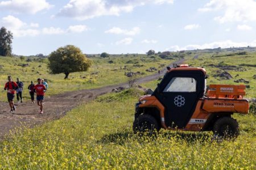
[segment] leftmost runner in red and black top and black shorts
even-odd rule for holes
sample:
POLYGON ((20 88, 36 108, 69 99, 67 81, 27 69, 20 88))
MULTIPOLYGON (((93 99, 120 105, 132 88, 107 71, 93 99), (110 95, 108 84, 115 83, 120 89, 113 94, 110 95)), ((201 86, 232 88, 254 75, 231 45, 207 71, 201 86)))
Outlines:
POLYGON ((11 80, 11 76, 8 76, 8 82, 5 84, 5 90, 7 90, 7 99, 11 108, 10 112, 15 111, 15 105, 13 99, 15 97, 15 90, 18 88, 18 84, 11 80))

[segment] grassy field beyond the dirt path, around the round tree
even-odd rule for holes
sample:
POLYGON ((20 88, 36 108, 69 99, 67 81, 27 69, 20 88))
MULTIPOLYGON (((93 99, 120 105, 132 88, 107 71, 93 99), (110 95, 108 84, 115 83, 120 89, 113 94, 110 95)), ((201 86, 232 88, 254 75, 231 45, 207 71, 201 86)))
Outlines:
MULTIPOLYGON (((127 82, 128 78, 125 72, 137 72, 140 71, 146 76, 154 74, 147 72, 146 69, 155 67, 156 69, 162 69, 164 66, 175 61, 174 59, 161 59, 158 56, 148 57, 146 55, 121 55, 112 56, 109 58, 92 57, 93 66, 89 71, 71 73, 69 79, 64 80, 64 74, 49 74, 47 68, 47 59, 40 59, 32 57, 32 62, 27 62, 27 58, 23 61, 18 57, 0 57, 0 101, 6 101, 6 92, 3 91, 3 87, 7 82, 7 76, 11 75, 16 81, 16 78, 24 83, 24 99, 30 97, 27 87, 31 80, 36 82, 38 78, 44 78, 48 80, 49 89, 47 95, 60 94, 66 91, 75 91, 81 89, 96 88, 102 86, 108 86, 112 84, 118 84, 127 82), (109 63, 112 61, 113 63, 109 63), (27 64, 28 66, 22 67, 19 65, 27 64), (138 66, 141 65, 141 66, 138 66), (126 69, 124 69, 126 66, 126 69)), ((157 71, 155 71, 156 73, 157 71)))

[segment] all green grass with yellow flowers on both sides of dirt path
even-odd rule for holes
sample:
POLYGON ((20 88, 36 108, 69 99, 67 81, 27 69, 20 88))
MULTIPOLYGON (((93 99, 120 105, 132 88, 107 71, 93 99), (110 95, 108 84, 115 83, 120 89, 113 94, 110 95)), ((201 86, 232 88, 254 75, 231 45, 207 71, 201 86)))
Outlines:
MULTIPOLYGON (((233 76, 230 80, 218 80, 219 77, 213 77, 219 68, 209 66, 210 64, 238 66, 242 63, 256 63, 255 52, 248 52, 249 54, 243 56, 220 57, 227 53, 226 51, 218 53, 217 56, 216 53, 213 55, 208 51, 200 52, 198 59, 191 59, 195 54, 193 52, 186 58, 189 65, 204 66, 207 69, 208 84, 240 84, 235 83, 234 80, 240 78, 249 80, 250 83, 246 85, 250 85, 250 88, 246 89, 246 97, 255 98, 256 84, 255 79, 252 78, 256 74, 255 67, 241 66, 243 71, 239 73, 228 70, 233 76), (234 78, 237 74, 239 76, 234 78)), ((8 67, 6 61, 3 58, 0 59, 2 59, 0 62, 5 63, 6 69, 8 67)), ((63 80, 62 74, 50 75, 44 72, 46 63, 40 63, 42 67, 39 73, 44 73, 40 76, 51 80, 50 95, 125 81, 123 70, 117 71, 118 73, 111 70, 128 65, 126 62, 131 59, 125 57, 112 59, 116 60, 113 64, 109 64, 109 59, 96 57, 93 59, 94 66, 88 73, 73 73, 69 80, 63 80), (97 77, 91 75, 98 70, 100 73, 97 77), (113 73, 117 76, 113 76, 113 73), (89 80, 92 76, 95 83, 90 84, 80 79, 81 74, 88 76, 85 80, 89 80), (63 84, 62 91, 57 90, 59 84, 63 84)), ((134 59, 136 60, 137 57, 134 59)), ((14 73, 15 59, 10 58, 10 60, 12 61, 10 67, 13 69, 9 68, 10 72, 7 72, 7 69, 0 70, 1 84, 5 82, 3 73, 14 73)), ((147 65, 137 69, 141 71, 147 69, 149 65, 158 66, 160 63, 170 62, 170 60, 147 63, 139 61, 147 65)), ((26 69, 31 70, 38 64, 33 62, 26 69)), ((133 67, 133 64, 129 66, 133 67)), ((22 67, 18 68, 22 69, 22 67)), ((30 80, 31 78, 28 77, 32 74, 30 70, 19 72, 19 76, 26 81, 30 80)), ((133 68, 132 71, 137 70, 133 68)), ((34 72, 31 75, 34 79, 38 76, 34 72)), ((143 86, 155 89, 158 82, 155 80, 143 86)), ((73 109, 60 120, 46 122, 32 129, 15 129, 11 135, 0 142, 0 169, 256 169, 255 114, 233 115, 240 125, 240 135, 235 141, 213 141, 212 132, 166 130, 160 130, 157 138, 139 138, 133 134, 132 125, 134 104, 141 95, 142 92, 136 89, 125 90, 118 94, 106 94, 73 109)))

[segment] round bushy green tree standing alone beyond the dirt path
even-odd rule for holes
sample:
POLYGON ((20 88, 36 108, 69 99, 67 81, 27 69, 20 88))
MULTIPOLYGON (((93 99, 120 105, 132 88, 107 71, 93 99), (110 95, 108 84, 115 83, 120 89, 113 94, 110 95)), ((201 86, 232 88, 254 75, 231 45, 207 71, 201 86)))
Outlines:
POLYGON ((49 55, 48 67, 53 74, 64 73, 68 78, 69 73, 87 71, 92 61, 82 53, 80 48, 74 45, 66 45, 58 48, 49 55))

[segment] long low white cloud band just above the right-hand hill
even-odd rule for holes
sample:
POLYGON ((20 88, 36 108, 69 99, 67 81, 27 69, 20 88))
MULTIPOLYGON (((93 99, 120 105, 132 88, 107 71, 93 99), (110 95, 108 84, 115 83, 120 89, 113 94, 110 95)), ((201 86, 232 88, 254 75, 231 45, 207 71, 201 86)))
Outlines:
POLYGON ((226 41, 215 41, 215 42, 210 42, 202 45, 198 44, 191 44, 191 45, 186 45, 183 47, 180 47, 178 45, 171 46, 170 48, 167 48, 166 50, 171 50, 171 51, 177 51, 177 50, 193 50, 193 49, 212 49, 212 48, 230 48, 230 47, 245 47, 245 46, 256 46, 256 40, 252 42, 234 42, 231 40, 226 40, 226 41))

